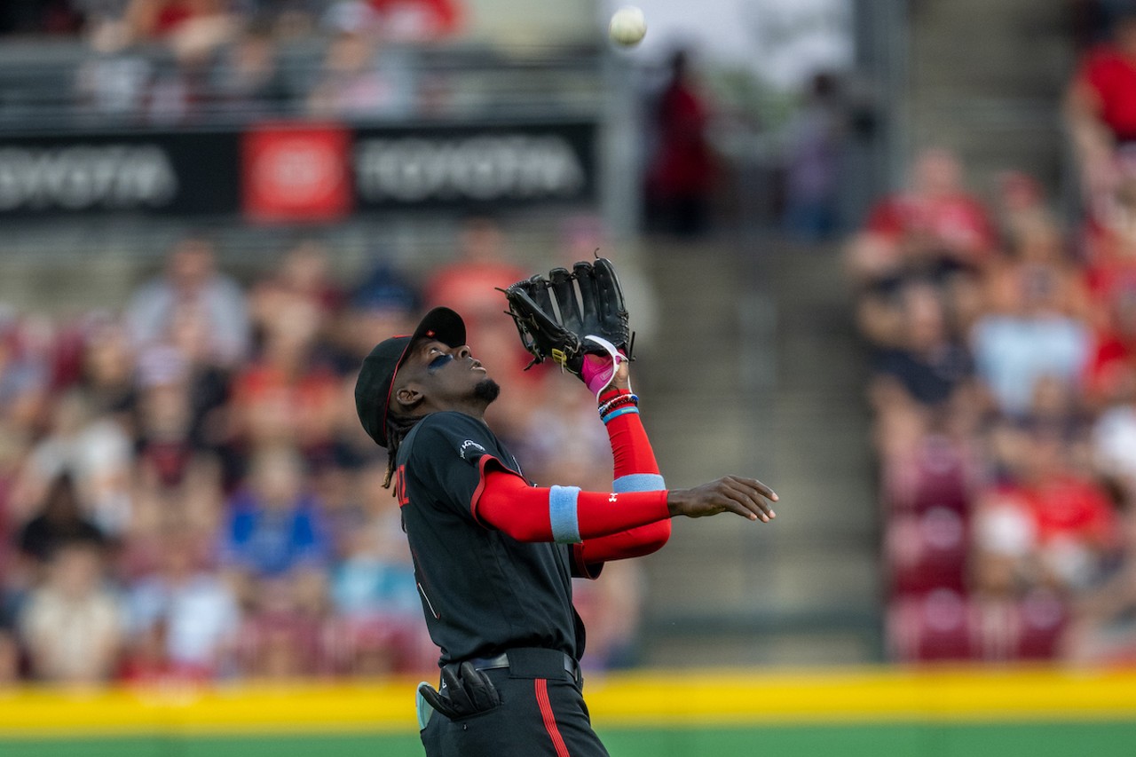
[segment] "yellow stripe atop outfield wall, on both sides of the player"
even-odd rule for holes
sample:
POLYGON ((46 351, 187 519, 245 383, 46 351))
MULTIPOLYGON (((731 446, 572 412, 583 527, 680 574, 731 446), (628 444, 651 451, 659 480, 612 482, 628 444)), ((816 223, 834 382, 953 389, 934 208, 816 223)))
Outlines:
MULTIPOLYGON (((415 680, 156 690, 0 689, 0 738, 412 732, 415 680)), ((1136 671, 699 671, 592 675, 600 727, 846 722, 1136 722, 1136 671)))

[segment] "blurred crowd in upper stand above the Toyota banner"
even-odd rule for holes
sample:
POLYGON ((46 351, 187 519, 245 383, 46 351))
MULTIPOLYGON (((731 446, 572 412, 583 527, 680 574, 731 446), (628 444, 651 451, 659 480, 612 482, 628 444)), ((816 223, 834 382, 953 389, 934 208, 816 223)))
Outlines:
POLYGON ((465 20, 458 0, 34 0, 0 7, 0 38, 81 43, 73 81, 28 97, 82 123, 400 118, 452 99, 418 53, 465 20))

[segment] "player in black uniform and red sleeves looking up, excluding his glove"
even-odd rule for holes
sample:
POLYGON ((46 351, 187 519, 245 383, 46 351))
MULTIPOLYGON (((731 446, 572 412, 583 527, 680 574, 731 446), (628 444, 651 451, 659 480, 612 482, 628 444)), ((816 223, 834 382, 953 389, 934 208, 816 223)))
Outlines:
POLYGON ((411 335, 376 346, 356 385, 364 429, 390 452, 441 649, 438 688, 418 687, 423 744, 429 757, 607 755, 582 693, 571 577, 659 549, 676 515, 768 522, 777 496, 735 476, 667 490, 613 348, 588 356, 585 372, 611 441, 612 491, 534 486, 484 421, 499 386, 465 342, 461 317, 434 308, 411 335))

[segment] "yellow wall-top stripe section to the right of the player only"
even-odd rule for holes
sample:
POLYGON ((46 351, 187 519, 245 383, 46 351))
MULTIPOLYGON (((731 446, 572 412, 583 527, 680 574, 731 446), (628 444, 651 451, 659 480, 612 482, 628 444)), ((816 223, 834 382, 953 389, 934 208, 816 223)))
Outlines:
POLYGON ((632 723, 1136 719, 1136 672, 657 673, 590 687, 587 700, 596 719, 632 723))

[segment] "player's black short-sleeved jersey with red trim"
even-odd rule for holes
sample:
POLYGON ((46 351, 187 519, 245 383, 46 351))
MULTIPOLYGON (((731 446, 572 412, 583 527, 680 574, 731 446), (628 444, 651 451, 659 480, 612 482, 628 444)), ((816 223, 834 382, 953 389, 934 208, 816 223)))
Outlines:
POLYGON ((441 664, 516 647, 579 659, 584 630, 571 605, 570 547, 520 542, 474 516, 493 466, 520 475, 483 421, 454 411, 423 418, 395 459, 415 579, 441 664))

